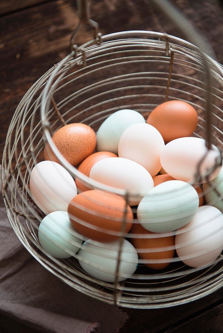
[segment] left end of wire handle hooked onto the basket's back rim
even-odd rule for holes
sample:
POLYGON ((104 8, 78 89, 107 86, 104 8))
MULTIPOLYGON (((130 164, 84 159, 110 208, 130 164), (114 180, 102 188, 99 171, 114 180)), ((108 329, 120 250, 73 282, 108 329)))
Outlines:
POLYGON ((94 29, 94 39, 96 40, 97 44, 101 42, 101 33, 98 32, 98 23, 90 19, 90 4, 88 0, 77 0, 77 8, 78 8, 78 16, 79 22, 77 27, 71 34, 70 37, 70 50, 74 52, 74 57, 76 56, 77 52, 80 50, 83 54, 83 64, 85 65, 86 59, 84 57, 84 49, 78 48, 75 44, 75 37, 77 32, 79 31, 82 24, 86 24, 94 29))

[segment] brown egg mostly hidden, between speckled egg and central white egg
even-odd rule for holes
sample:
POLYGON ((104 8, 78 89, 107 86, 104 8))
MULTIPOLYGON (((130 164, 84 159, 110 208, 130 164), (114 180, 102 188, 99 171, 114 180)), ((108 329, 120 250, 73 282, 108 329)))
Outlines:
MULTIPOLYGON (((110 153, 110 152, 97 152, 94 153, 90 156, 88 156, 79 166, 78 166, 78 171, 82 172, 83 174, 85 174, 86 176, 89 177, 90 174, 90 170, 92 168, 92 166, 97 163, 100 160, 103 159, 107 159, 109 157, 118 157, 116 154, 114 153, 110 153)), ((77 186, 77 190, 78 192, 84 192, 84 191, 88 191, 91 188, 87 187, 86 185, 82 184, 81 181, 79 181, 78 179, 75 179, 75 183, 77 186)))

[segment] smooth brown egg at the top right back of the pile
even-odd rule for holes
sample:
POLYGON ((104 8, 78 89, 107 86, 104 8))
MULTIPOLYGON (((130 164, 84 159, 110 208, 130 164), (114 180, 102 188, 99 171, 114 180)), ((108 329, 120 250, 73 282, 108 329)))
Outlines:
POLYGON ((183 101, 168 101, 158 105, 149 115, 147 124, 154 126, 168 143, 174 139, 189 137, 196 130, 196 110, 183 101))

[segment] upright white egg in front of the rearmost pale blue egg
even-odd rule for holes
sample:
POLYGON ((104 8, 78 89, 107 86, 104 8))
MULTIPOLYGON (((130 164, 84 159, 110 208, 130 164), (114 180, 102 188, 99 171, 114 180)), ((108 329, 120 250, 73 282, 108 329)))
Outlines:
POLYGON ((161 169, 160 154, 164 147, 164 140, 155 127, 134 124, 120 138, 119 157, 139 163, 154 177, 161 169))

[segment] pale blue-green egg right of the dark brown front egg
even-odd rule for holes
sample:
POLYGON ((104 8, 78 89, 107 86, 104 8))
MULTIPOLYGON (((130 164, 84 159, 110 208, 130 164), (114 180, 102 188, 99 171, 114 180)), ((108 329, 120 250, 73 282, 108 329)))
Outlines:
POLYGON ((151 232, 170 232, 187 224, 197 212, 199 196, 184 181, 169 180, 155 186, 141 200, 137 217, 151 232))

